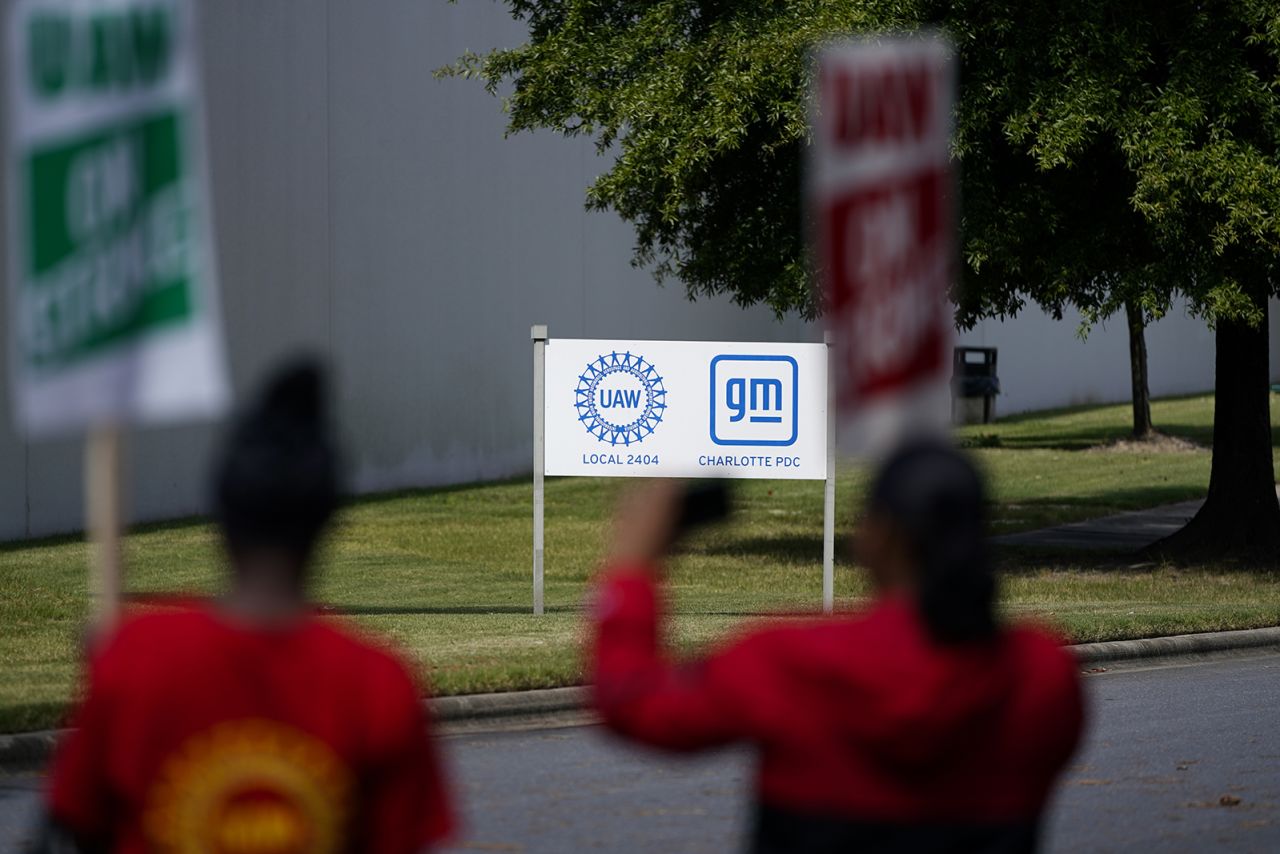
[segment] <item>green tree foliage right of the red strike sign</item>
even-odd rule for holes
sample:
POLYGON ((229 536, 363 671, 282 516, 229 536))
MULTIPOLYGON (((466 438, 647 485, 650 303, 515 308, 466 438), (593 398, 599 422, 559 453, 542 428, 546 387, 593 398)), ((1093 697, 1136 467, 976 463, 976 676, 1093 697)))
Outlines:
POLYGON ((1029 296, 1256 321, 1280 257, 1272 3, 954 4, 961 321, 1029 296))

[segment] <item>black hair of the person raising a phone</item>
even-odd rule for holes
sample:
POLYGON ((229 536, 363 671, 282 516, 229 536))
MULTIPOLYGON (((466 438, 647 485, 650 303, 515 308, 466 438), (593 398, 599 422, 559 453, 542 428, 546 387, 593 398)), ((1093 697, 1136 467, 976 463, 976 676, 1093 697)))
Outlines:
POLYGON ((910 543, 916 604, 931 636, 942 644, 995 636, 986 493, 969 458, 940 440, 902 446, 879 470, 869 510, 883 513, 910 543))

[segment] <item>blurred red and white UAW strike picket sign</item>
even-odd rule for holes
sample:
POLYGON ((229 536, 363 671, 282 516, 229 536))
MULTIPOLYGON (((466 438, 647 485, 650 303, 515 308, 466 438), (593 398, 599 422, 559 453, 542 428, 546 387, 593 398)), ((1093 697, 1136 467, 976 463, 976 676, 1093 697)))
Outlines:
POLYGON ((951 50, 936 37, 818 54, 808 196, 838 443, 851 453, 950 424, 954 92, 951 50))

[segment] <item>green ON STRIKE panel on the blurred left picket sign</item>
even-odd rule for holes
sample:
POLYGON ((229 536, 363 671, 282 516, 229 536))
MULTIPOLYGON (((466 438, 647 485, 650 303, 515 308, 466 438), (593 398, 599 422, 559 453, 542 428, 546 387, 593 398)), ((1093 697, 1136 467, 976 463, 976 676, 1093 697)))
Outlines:
POLYGON ((179 117, 32 152, 27 359, 92 357, 191 318, 192 211, 179 117))

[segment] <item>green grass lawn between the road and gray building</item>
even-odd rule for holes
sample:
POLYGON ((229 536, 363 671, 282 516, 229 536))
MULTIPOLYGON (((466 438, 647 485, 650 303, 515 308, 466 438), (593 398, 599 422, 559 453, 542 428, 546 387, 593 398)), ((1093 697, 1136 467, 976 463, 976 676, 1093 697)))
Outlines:
MULTIPOLYGON (((1212 398, 1153 405, 1160 429, 1204 443, 1212 398)), ((1272 406, 1272 423, 1280 411, 1272 406)), ((988 472, 998 533, 1202 495, 1210 455, 1098 448, 1126 431, 1126 406, 1018 416, 965 428, 988 472)), ((440 694, 573 684, 580 607, 598 560, 614 480, 553 479, 547 489, 547 604, 530 608, 531 495, 525 481, 366 498, 343 515, 316 597, 361 629, 394 639, 440 694)), ((865 472, 841 470, 841 534, 865 472)), ((820 598, 822 487, 742 481, 740 513, 691 540, 672 568, 682 647, 745 620, 813 611, 820 598)), ((133 594, 219 590, 214 531, 145 526, 127 539, 133 594)), ((77 672, 87 549, 77 538, 0 545, 0 731, 54 726, 77 672)), ((1221 567, 1130 566, 1116 556, 1005 556, 1007 609, 1080 641, 1280 624, 1280 577, 1221 567)), ((842 607, 865 593, 837 565, 842 607)))

